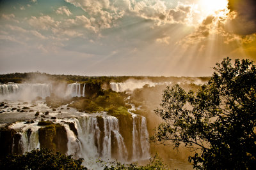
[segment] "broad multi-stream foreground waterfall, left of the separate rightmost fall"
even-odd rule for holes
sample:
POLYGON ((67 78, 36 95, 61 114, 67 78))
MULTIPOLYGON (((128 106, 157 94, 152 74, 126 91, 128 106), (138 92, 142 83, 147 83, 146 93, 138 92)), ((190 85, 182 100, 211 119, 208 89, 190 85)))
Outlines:
POLYGON ((127 149, 124 138, 119 132, 118 119, 115 117, 102 117, 102 119, 104 122, 102 139, 100 139, 100 128, 96 117, 74 118, 77 137, 65 125, 68 136, 68 154, 83 157, 86 160, 100 156, 104 159, 127 160, 127 149), (116 140, 117 157, 112 155, 113 140, 116 140))

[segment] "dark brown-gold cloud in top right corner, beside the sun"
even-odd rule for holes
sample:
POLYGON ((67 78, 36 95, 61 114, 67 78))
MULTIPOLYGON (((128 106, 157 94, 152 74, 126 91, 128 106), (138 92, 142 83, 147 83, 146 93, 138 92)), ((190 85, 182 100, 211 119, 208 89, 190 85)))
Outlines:
POLYGON ((256 33, 256 1, 255 0, 229 0, 230 14, 234 15, 227 22, 227 31, 239 35, 256 33))

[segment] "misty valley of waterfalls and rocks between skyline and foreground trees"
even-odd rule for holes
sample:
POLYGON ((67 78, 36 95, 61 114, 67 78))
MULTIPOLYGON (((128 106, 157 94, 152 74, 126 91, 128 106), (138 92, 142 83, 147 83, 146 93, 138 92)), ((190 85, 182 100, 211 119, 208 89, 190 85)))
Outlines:
POLYGON ((171 169, 191 169, 189 151, 150 143, 161 123, 154 110, 166 86, 198 89, 209 78, 65 76, 14 73, 0 76, 1 155, 49 148, 83 158, 146 164, 155 153, 171 169))

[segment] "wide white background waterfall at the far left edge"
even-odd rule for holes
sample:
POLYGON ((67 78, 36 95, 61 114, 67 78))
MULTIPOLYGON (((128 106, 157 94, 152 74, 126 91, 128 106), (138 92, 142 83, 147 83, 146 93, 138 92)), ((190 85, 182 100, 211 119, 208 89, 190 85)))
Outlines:
POLYGON ((0 98, 2 99, 28 99, 35 97, 45 98, 51 96, 51 85, 42 83, 12 83, 0 85, 0 98))

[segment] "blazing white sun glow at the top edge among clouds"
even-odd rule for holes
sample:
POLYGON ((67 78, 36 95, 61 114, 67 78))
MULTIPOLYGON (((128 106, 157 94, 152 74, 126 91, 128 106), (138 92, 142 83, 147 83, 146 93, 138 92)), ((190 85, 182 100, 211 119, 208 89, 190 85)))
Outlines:
POLYGON ((226 10, 228 6, 228 0, 199 0, 198 5, 204 15, 214 14, 216 11, 226 10))

